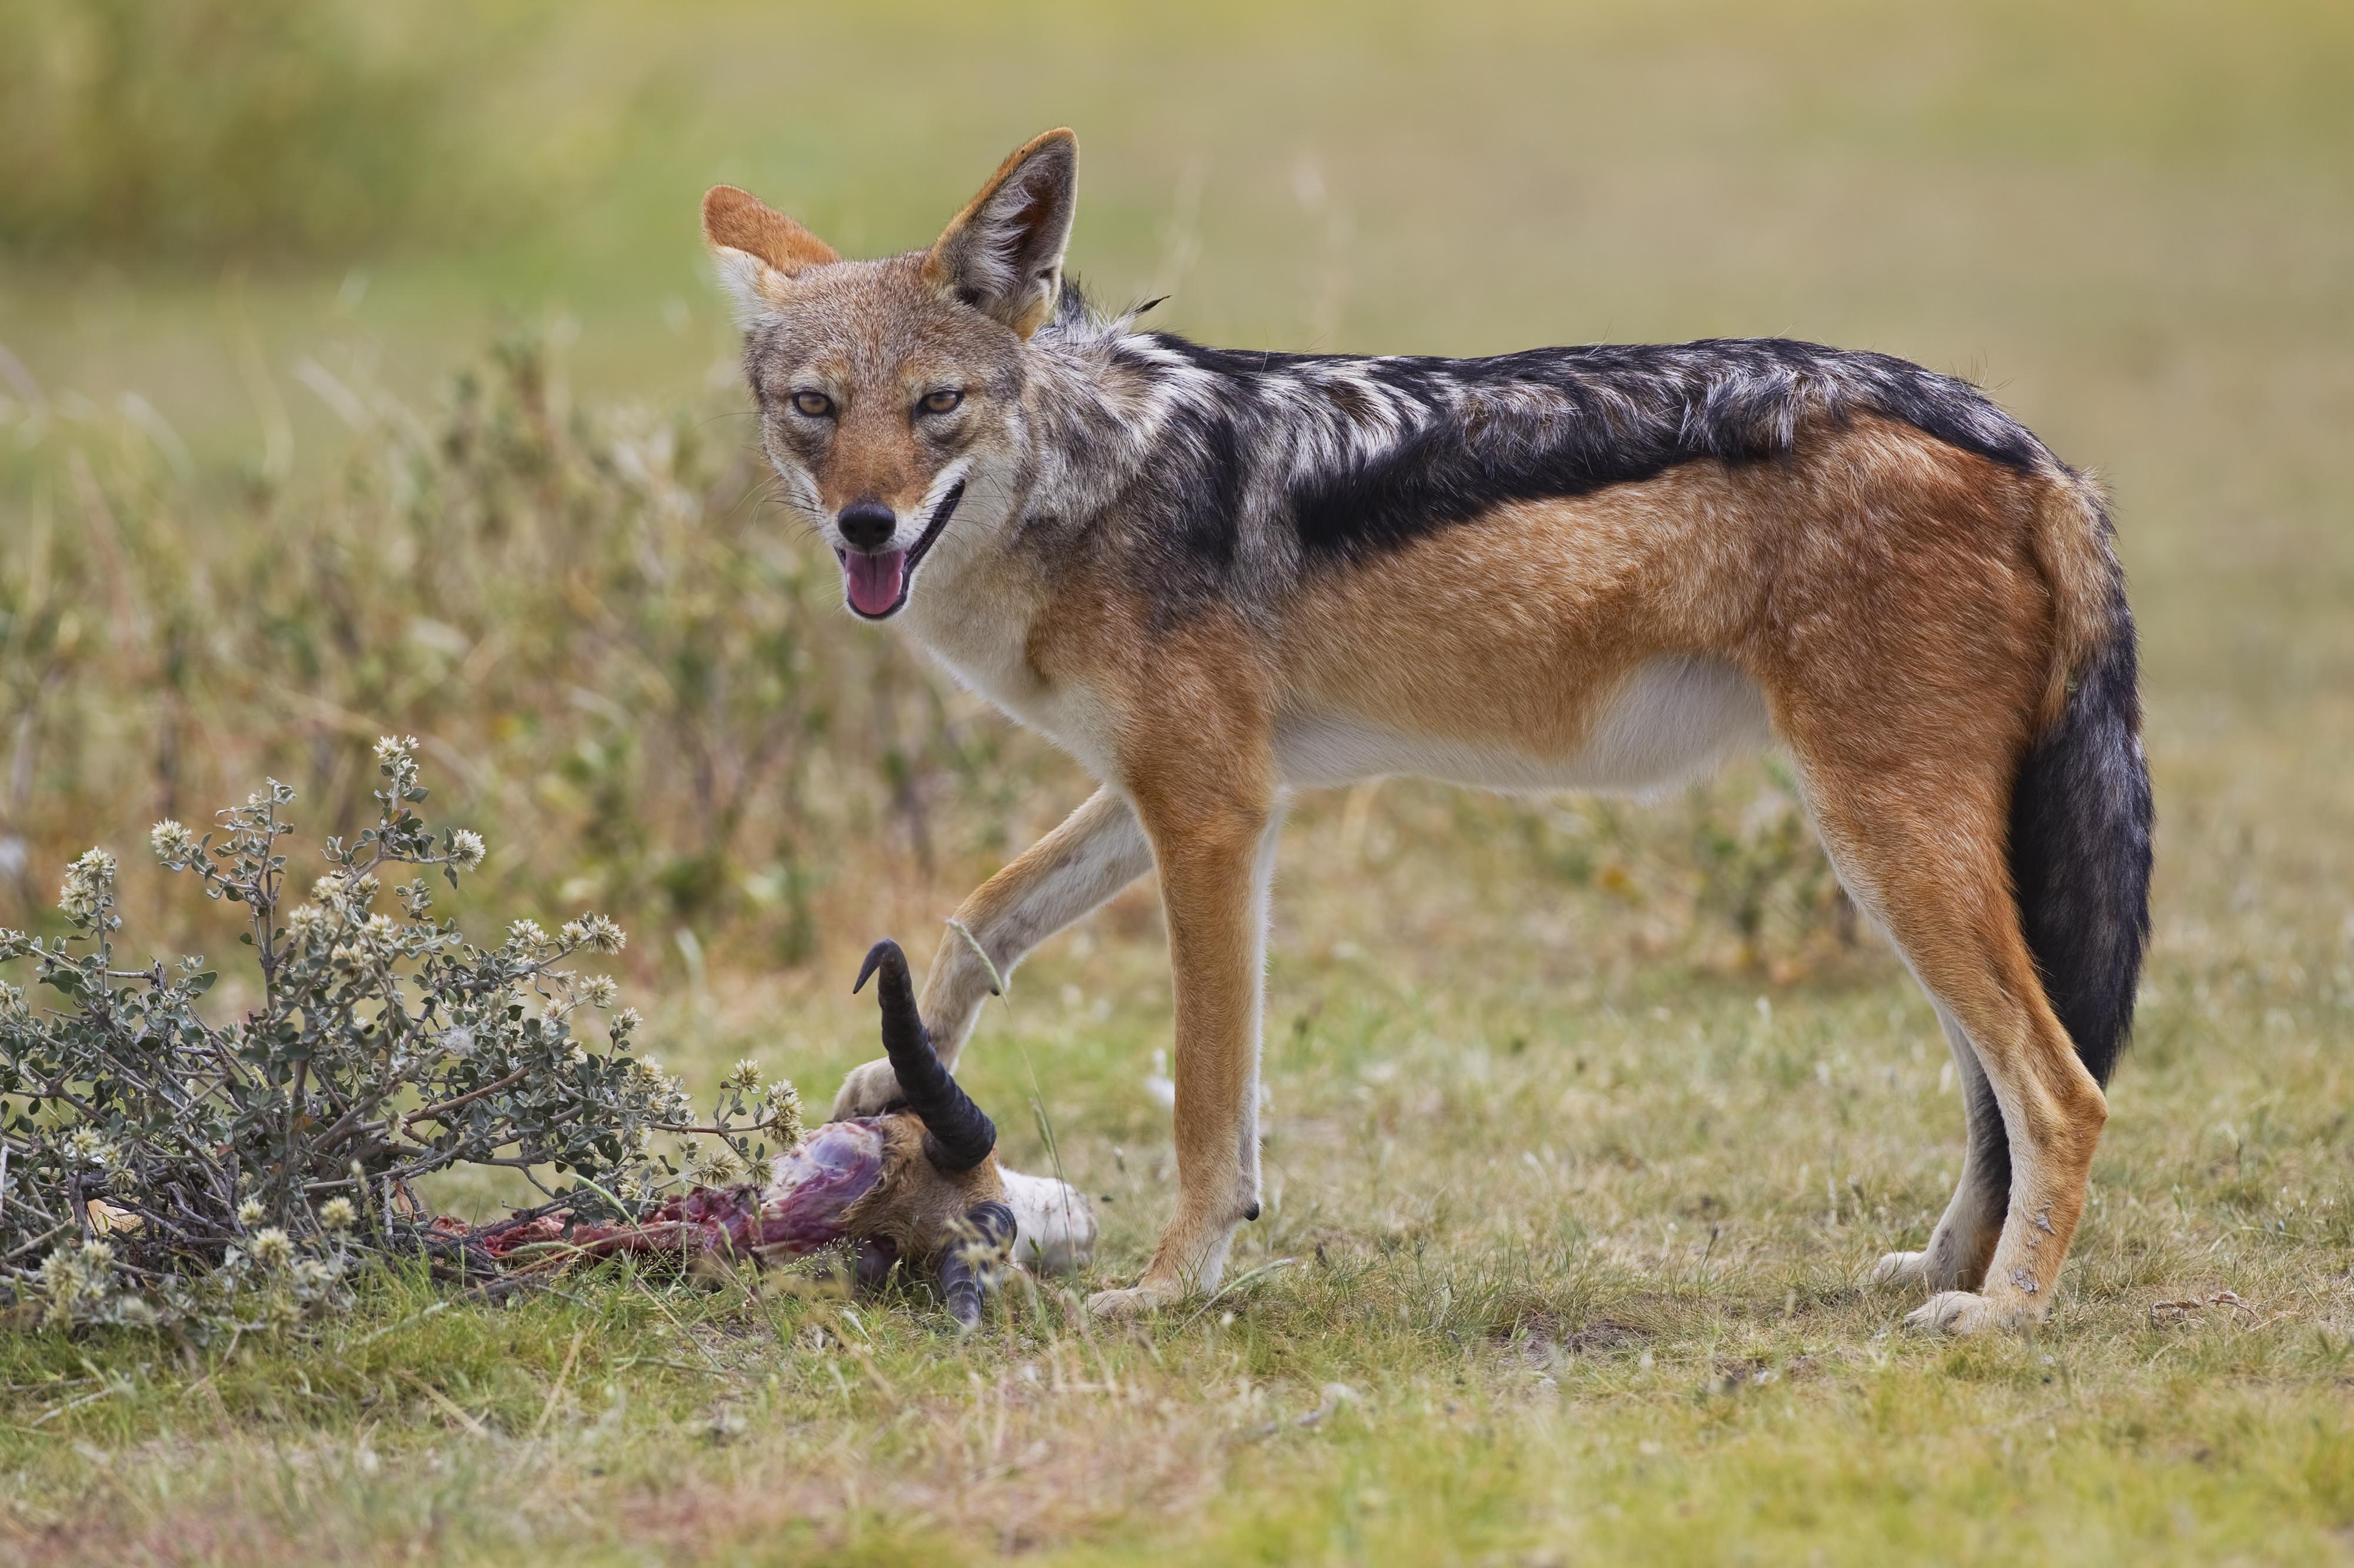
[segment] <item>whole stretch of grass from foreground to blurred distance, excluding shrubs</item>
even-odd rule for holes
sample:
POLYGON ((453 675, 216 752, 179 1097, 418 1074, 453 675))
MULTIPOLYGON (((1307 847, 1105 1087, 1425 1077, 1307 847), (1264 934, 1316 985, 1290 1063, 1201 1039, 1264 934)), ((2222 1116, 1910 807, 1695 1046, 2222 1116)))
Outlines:
MULTIPOLYGON (((0 341, 52 396, 151 393, 200 457, 261 447, 240 320, 266 377, 344 351, 426 384, 499 301, 556 306, 586 388, 669 396, 725 351, 664 238, 706 179, 876 250, 1069 120, 1083 271, 1175 283, 1205 337, 1794 332, 1980 374, 2116 490, 2161 810, 2140 1038, 2053 1323, 1930 1342, 1857 1288, 1959 1168, 1890 954, 1744 975, 1641 878, 1549 871, 1532 845, 1580 817, 1391 784, 1290 836, 1269 1212, 1219 1300, 1111 1333, 1052 1285, 956 1342, 918 1302, 596 1274, 506 1309, 386 1283, 233 1354, 0 1337, 0 1556, 2354 1556, 2345 14, 845 14, 567 33, 551 80, 669 129, 544 235, 384 261, 358 301, 341 268, 242 294, 16 268, 0 341)), ((1017 815, 1078 793, 1048 775, 1017 815)), ((647 1041, 699 1085, 756 1055, 822 1097, 871 1055, 855 951, 920 954, 960 892, 899 866, 807 970, 650 970, 647 1041)), ((1137 890, 967 1057, 1015 1163, 1045 1165, 1036 1102, 1106 1194, 1106 1274, 1165 1212, 1165 1043, 1137 890)))

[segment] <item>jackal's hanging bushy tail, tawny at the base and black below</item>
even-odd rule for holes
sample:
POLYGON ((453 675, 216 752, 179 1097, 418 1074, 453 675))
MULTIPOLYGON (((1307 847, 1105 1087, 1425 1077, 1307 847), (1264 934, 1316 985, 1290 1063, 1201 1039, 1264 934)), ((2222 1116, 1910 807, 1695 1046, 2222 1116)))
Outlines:
POLYGON ((2053 711, 2010 791, 2010 878, 2053 1012, 2107 1083, 2133 1034, 2149 939, 2152 800, 2133 612, 2088 480, 2055 485, 2036 553, 2057 669, 2053 711))

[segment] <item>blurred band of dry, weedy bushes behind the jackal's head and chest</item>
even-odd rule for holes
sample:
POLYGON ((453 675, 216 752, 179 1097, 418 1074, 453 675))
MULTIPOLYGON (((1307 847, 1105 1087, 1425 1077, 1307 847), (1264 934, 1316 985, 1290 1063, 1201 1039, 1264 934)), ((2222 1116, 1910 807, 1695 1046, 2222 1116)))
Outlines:
POLYGON ((0 921, 47 918, 35 866, 99 826, 254 777, 355 831, 353 742, 384 730, 421 737, 494 833, 485 895, 734 935, 763 963, 814 954, 829 881, 977 878, 960 862, 1008 848, 1045 749, 1000 753, 977 702, 847 624, 744 426, 581 407, 527 334, 438 410, 355 367, 306 374, 360 428, 299 490, 233 492, 113 412, 0 400, 0 452, 24 452, 0 530, 0 921))

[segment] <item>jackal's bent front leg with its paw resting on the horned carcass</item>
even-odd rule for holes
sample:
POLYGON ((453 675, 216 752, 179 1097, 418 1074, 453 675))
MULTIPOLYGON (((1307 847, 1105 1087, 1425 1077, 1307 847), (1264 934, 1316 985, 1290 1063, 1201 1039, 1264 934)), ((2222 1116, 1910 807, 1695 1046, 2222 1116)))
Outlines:
MULTIPOLYGON (((991 970, 998 979, 1012 975, 1033 946, 1102 906, 1151 864, 1153 850, 1135 810, 1118 791, 1099 789, 1062 826, 982 883, 956 911, 963 932, 949 930, 942 937, 923 982, 923 1024, 942 1064, 956 1067, 972 1019, 989 998, 991 970), (982 954, 989 956, 986 963, 982 954)), ((899 1078, 890 1062, 866 1062, 843 1078, 831 1118, 873 1116, 897 1097, 899 1078)))

